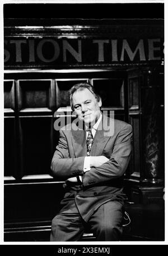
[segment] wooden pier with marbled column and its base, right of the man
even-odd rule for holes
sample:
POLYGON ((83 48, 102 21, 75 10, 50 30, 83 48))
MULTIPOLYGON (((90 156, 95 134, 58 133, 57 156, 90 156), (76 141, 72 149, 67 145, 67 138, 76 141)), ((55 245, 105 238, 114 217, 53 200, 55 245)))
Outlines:
POLYGON ((162 66, 128 72, 133 152, 127 187, 130 200, 160 202, 164 189, 164 74, 162 66))

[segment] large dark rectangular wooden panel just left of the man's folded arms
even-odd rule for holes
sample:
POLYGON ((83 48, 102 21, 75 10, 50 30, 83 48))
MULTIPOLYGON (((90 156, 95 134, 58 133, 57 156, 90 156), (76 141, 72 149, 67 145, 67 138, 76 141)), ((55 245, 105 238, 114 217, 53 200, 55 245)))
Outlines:
POLYGON ((22 175, 47 174, 52 159, 52 117, 21 117, 22 175))

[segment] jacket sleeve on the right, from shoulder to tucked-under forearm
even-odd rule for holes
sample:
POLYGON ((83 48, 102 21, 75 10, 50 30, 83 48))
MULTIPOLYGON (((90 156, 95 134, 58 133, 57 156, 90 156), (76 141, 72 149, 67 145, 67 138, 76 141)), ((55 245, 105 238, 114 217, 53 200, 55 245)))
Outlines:
POLYGON ((132 126, 127 124, 116 137, 113 152, 108 162, 99 167, 91 168, 82 177, 83 186, 117 179, 127 169, 132 150, 132 126))

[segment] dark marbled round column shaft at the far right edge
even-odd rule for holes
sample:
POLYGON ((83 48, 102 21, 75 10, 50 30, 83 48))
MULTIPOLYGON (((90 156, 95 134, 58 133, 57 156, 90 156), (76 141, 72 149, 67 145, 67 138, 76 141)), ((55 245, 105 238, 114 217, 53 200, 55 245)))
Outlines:
POLYGON ((164 81, 159 70, 144 71, 141 85, 142 173, 141 182, 164 180, 164 81))

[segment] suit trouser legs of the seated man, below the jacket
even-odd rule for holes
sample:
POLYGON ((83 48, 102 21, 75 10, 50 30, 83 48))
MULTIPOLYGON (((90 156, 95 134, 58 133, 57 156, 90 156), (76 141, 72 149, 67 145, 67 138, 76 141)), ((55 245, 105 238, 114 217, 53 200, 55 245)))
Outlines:
MULTIPOLYGON (((111 200, 102 204, 90 217, 88 224, 97 241, 119 241, 122 232, 123 204, 111 200)), ((50 241, 81 241, 86 222, 74 200, 71 208, 57 214, 52 221, 50 241)))

